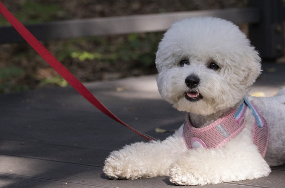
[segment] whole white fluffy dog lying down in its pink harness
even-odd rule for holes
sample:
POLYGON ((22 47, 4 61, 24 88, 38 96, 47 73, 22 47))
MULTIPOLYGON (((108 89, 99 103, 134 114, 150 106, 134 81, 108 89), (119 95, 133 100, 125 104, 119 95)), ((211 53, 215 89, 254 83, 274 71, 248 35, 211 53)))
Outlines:
POLYGON ((157 85, 164 99, 187 112, 185 125, 166 140, 113 151, 104 173, 111 179, 167 175, 178 185, 269 175, 269 166, 285 161, 285 89, 269 98, 247 95, 260 61, 232 22, 174 23, 158 47, 157 85))

